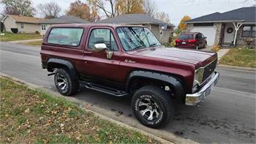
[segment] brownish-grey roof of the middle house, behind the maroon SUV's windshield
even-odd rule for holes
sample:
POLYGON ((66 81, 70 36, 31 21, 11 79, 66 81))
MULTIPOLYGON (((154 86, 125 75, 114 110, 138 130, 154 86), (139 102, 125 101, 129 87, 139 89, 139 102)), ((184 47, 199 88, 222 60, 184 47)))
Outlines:
MULTIPOLYGON (((127 14, 127 15, 118 15, 117 17, 107 18, 105 20, 99 20, 95 23, 118 23, 118 24, 140 24, 140 23, 149 23, 149 24, 165 24, 162 20, 157 20, 156 18, 151 18, 149 15, 144 14, 127 14)), ((172 26, 172 25, 169 25, 172 26)))

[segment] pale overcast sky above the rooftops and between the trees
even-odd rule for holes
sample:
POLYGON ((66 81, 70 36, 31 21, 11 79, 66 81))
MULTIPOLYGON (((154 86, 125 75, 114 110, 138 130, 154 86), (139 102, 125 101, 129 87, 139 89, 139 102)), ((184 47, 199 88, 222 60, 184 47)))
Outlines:
MULTIPOLYGON (((75 0, 32 0, 34 6, 40 3, 56 1, 62 8, 61 15, 64 15, 70 2, 75 0)), ((83 0, 81 0, 83 1, 83 0)), ((213 12, 226 12, 239 7, 252 6, 254 0, 151 0, 156 4, 158 12, 167 12, 170 15, 170 21, 178 25, 184 15, 191 18, 197 18, 213 12)), ((1 7, 0 7, 1 10, 1 7)), ((39 16, 39 15, 37 15, 39 16)))

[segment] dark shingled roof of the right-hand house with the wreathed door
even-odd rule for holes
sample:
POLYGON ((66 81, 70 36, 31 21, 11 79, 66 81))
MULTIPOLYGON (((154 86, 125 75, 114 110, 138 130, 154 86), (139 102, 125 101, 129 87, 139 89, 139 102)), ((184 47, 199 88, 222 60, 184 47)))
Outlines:
POLYGON ((185 23, 214 23, 228 21, 256 22, 255 11, 256 7, 241 7, 228 12, 214 12, 209 15, 203 15, 199 18, 188 20, 185 23))

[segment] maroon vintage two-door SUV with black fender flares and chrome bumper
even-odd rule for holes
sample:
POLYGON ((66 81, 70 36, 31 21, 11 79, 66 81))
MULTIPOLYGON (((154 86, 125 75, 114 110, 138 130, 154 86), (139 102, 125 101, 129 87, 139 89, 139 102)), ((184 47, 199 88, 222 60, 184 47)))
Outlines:
POLYGON ((217 53, 165 48, 144 26, 53 25, 40 53, 61 94, 84 86, 131 96, 136 118, 152 128, 173 118, 174 100, 197 105, 219 79, 217 53))

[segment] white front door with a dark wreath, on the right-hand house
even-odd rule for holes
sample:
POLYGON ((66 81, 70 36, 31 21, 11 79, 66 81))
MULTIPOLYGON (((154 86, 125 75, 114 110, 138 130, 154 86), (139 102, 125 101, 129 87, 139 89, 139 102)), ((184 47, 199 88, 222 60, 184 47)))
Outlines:
POLYGON ((233 23, 227 23, 225 26, 224 43, 233 42, 235 37, 235 28, 233 23))

